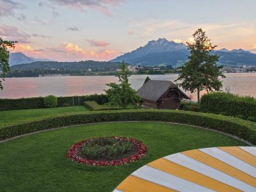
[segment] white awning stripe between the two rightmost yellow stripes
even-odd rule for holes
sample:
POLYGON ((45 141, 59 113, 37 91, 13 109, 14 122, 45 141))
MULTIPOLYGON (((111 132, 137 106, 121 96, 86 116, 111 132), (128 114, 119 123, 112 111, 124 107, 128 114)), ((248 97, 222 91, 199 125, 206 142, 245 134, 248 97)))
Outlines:
POLYGON ((254 166, 245 163, 244 161, 228 154, 227 152, 224 152, 223 150, 220 150, 220 148, 201 148, 199 150, 205 154, 208 154, 209 156, 229 164, 230 166, 233 166, 241 172, 251 175, 252 177, 256 177, 256 168, 254 166))

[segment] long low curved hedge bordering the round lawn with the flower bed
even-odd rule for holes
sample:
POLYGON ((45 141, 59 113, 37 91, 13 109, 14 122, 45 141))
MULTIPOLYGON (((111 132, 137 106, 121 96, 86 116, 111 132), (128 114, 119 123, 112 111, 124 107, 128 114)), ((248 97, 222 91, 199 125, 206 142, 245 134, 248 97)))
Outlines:
POLYGON ((153 109, 70 113, 68 115, 57 115, 47 118, 38 118, 36 120, 3 124, 0 125, 0 140, 56 127, 118 121, 156 121, 197 125, 232 134, 233 136, 256 144, 256 124, 253 122, 209 113, 153 109))

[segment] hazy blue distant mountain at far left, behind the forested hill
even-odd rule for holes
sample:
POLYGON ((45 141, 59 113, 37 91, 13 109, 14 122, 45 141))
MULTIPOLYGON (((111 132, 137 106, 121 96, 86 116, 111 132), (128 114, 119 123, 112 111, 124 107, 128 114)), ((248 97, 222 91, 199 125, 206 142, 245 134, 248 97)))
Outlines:
POLYGON ((35 58, 30 58, 23 54, 22 52, 12 52, 10 53, 9 56, 9 64, 10 66, 12 65, 19 65, 23 63, 33 63, 35 61, 51 61, 47 59, 35 59, 35 58))

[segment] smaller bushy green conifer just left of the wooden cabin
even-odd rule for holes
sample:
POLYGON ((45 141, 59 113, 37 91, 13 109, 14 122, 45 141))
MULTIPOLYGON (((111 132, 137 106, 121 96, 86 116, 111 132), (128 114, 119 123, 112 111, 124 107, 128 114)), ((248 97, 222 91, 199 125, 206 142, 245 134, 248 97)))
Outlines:
POLYGON ((123 61, 120 72, 117 73, 119 84, 108 83, 108 90, 104 90, 111 104, 118 105, 120 108, 126 109, 130 104, 136 104, 140 101, 140 96, 136 90, 131 88, 128 77, 130 72, 123 61))

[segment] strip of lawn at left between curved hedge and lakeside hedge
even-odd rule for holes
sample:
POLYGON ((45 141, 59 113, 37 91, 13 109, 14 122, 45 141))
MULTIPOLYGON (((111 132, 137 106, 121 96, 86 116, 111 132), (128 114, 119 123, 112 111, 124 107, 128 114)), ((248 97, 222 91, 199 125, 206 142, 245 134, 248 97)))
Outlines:
POLYGON ((0 124, 16 122, 19 120, 28 120, 43 116, 51 116, 64 113, 76 113, 88 111, 84 106, 74 106, 66 108, 44 108, 44 109, 23 109, 23 110, 11 110, 0 111, 0 124))

